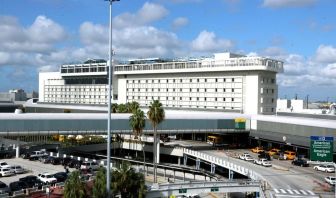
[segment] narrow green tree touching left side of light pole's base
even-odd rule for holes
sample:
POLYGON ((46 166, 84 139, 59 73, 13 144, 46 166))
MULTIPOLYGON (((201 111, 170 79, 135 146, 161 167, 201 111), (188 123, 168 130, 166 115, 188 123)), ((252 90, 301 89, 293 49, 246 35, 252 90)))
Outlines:
POLYGON ((93 198, 101 198, 107 197, 106 192, 106 169, 104 167, 100 167, 98 169, 96 178, 93 181, 93 198))

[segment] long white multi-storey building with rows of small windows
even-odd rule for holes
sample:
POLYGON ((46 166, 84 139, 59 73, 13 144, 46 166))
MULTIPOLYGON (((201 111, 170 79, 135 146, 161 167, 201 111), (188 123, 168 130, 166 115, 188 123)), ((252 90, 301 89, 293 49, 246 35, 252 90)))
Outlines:
MULTIPOLYGON (((40 73, 39 101, 106 105, 106 65, 91 61, 40 73)), ((113 101, 145 107, 158 99, 165 108, 274 114, 278 72, 281 61, 232 53, 188 61, 131 60, 114 66, 113 101)))

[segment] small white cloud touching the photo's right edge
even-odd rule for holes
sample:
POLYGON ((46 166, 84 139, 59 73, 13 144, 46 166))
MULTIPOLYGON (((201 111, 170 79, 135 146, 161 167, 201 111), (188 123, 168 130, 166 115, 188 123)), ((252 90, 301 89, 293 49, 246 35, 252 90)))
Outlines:
POLYGON ((336 47, 331 45, 320 45, 316 50, 315 59, 321 63, 336 62, 336 47))

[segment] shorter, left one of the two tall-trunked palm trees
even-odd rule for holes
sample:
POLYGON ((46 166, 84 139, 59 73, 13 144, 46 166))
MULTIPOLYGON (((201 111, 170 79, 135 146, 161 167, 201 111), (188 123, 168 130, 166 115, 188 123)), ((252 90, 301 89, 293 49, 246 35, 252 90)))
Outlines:
MULTIPOLYGON (((132 104, 132 103, 131 103, 132 104)), ((145 113, 140 109, 137 108, 133 110, 133 115, 130 116, 130 126, 133 129, 134 139, 139 138, 139 142, 142 144, 142 152, 144 158, 144 171, 146 169, 146 161, 145 161, 145 144, 141 141, 142 131, 146 126, 146 116, 145 113)))

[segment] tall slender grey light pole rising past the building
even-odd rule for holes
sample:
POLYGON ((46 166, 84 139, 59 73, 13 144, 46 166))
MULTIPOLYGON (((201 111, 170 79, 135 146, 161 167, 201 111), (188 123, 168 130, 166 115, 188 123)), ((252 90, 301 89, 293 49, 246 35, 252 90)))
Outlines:
POLYGON ((109 65, 108 65, 108 120, 107 120, 107 163, 106 163, 106 191, 107 197, 111 197, 111 89, 112 89, 112 3, 120 0, 105 0, 110 3, 110 34, 109 34, 109 65))

